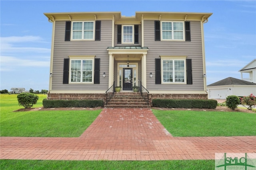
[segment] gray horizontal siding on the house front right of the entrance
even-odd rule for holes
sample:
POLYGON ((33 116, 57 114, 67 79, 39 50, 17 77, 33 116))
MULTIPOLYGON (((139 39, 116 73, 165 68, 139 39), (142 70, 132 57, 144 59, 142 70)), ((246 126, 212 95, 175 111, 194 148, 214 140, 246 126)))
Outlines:
POLYGON ((149 48, 146 56, 147 90, 204 90, 200 21, 190 21, 191 41, 155 41, 153 20, 145 20, 144 28, 144 47, 149 48), (187 59, 192 59, 193 84, 155 84, 155 59, 160 59, 160 55, 187 55, 187 59), (149 72, 153 78, 148 78, 149 72))

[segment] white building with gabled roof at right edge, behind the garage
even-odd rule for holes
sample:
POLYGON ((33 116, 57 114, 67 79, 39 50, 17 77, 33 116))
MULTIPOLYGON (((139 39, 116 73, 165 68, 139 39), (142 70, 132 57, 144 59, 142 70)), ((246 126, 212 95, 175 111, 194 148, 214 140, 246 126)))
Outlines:
POLYGON ((256 83, 256 59, 239 70, 241 79, 248 82, 256 83))

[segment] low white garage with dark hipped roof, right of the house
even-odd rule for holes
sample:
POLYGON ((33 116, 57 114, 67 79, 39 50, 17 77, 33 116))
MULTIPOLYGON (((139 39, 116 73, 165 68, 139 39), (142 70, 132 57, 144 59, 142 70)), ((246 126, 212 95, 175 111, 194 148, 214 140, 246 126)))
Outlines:
POLYGON ((228 77, 207 86, 208 98, 226 99, 227 96, 248 96, 256 94, 256 83, 228 77))

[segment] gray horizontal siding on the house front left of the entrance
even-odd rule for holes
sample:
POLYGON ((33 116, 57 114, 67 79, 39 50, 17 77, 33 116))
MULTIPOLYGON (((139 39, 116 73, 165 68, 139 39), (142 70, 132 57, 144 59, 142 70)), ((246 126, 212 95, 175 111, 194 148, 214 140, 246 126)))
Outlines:
POLYGON ((56 21, 52 90, 107 90, 109 55, 107 47, 112 46, 112 20, 101 21, 100 41, 64 41, 65 21, 56 21), (100 58, 100 84, 62 84, 64 58, 68 55, 96 55, 100 58), (102 74, 106 72, 106 77, 102 74))

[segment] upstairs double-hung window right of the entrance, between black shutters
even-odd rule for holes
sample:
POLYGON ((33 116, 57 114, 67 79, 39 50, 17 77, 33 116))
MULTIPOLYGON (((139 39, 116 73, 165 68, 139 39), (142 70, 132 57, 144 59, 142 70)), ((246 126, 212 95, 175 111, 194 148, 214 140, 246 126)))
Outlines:
POLYGON ((184 41, 184 22, 161 21, 162 40, 184 41))

